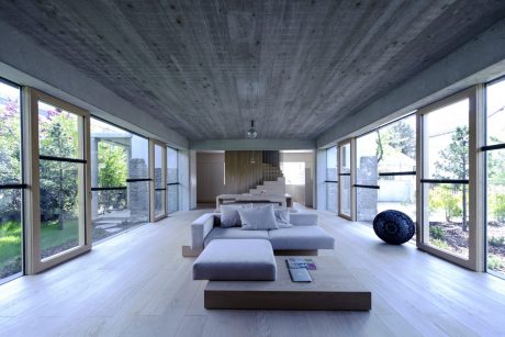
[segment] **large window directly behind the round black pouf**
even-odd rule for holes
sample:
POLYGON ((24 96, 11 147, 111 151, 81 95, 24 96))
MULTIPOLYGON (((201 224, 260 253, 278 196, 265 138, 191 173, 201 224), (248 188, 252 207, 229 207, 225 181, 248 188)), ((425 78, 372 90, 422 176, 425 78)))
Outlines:
POLYGON ((416 220, 416 122, 404 117, 356 141, 357 220, 402 211, 416 220))

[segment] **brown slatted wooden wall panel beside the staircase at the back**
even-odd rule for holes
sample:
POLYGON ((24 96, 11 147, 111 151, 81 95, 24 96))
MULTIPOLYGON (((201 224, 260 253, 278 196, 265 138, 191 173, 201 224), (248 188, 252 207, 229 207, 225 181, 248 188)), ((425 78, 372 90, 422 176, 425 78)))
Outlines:
POLYGON ((261 151, 225 151, 224 158, 226 193, 248 193, 261 183, 261 151))

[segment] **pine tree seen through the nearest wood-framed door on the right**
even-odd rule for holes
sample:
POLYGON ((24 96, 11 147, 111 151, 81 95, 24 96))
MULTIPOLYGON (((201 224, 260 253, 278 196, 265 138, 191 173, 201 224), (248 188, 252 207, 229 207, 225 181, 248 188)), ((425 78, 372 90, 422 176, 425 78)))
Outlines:
MULTIPOLYGON (((435 177, 438 179, 467 180, 469 171, 468 159, 468 126, 458 126, 451 135, 451 143, 440 150, 439 160, 435 162, 435 177)), ((462 190, 462 229, 468 231, 467 224, 467 184, 461 183, 462 190)), ((459 190, 459 187, 454 188, 459 190)))

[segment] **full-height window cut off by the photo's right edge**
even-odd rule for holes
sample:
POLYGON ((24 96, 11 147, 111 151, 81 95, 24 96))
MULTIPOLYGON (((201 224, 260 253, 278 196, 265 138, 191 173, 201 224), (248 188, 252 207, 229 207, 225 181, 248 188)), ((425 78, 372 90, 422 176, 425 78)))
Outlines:
POLYGON ((486 266, 505 277, 505 80, 486 87, 486 266))

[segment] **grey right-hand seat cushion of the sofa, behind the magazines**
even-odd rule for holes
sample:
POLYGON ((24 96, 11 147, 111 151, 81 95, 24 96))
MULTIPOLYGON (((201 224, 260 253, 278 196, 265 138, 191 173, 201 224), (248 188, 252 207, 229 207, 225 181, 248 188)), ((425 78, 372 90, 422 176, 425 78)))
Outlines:
MULTIPOLYGON (((211 232, 212 233, 212 232, 211 232)), ((268 232, 273 249, 333 249, 335 239, 318 226, 293 226, 268 232)))

